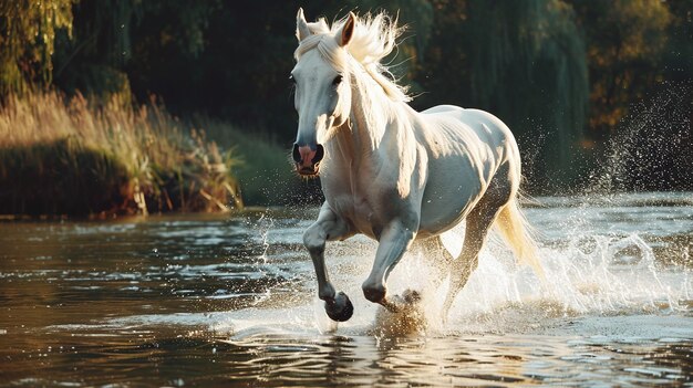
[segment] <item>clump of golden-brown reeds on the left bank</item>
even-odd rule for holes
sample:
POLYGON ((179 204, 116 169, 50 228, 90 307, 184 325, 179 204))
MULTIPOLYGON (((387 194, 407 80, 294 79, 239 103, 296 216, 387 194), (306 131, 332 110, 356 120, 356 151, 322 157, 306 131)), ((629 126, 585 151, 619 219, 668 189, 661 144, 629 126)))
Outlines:
POLYGON ((242 207, 237 164, 154 99, 49 91, 0 106, 0 213, 228 211, 242 207))

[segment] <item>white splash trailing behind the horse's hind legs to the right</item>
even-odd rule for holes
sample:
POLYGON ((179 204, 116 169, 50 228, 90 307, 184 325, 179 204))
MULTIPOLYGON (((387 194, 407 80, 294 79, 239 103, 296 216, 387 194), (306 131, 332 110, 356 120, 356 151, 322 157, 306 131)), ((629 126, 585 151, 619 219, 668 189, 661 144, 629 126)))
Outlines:
MULTIPOLYGON (((565 247, 544 247, 546 282, 515 265, 497 241, 489 245, 451 311, 448 326, 455 329, 531 331, 557 318, 690 308, 684 302, 693 290, 690 271, 659 269, 652 248, 637 233, 576 233, 565 247)), ((428 315, 439 308, 445 292, 443 285, 431 295, 428 315)))

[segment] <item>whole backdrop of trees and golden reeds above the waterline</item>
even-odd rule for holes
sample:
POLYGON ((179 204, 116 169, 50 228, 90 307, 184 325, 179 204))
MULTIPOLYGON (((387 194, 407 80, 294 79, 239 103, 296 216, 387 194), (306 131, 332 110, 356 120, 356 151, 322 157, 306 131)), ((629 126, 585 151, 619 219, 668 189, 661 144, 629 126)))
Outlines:
POLYGON ((693 190, 693 0, 244 4, 0 0, 0 219, 319 203, 290 156, 299 7, 405 25, 412 108, 499 117, 531 196, 693 190))

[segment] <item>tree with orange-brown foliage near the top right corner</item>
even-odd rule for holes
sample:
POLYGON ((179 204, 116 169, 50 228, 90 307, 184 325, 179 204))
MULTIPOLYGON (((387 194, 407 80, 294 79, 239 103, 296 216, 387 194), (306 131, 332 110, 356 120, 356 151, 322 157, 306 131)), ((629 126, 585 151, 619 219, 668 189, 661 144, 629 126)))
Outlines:
POLYGON ((672 17, 659 0, 570 2, 588 45, 590 135, 603 140, 628 114, 629 105, 663 81, 660 69, 672 17))

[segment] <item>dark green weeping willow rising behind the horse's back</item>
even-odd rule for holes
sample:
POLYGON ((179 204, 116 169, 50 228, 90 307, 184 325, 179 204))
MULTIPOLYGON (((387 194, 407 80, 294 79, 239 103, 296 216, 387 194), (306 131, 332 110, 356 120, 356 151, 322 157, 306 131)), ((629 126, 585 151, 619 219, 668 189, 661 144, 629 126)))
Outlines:
POLYGON ((560 0, 444 0, 434 7, 425 76, 438 80, 423 81, 431 94, 493 112, 523 138, 525 150, 540 149, 536 182, 575 177, 589 84, 572 9, 560 0))

